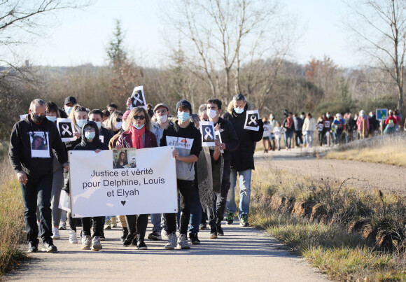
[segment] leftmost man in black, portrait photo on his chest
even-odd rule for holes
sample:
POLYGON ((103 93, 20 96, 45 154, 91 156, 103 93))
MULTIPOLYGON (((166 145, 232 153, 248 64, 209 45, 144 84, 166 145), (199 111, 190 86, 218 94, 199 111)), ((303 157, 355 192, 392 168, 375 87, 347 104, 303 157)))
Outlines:
POLYGON ((58 162, 68 169, 64 145, 57 127, 54 122, 45 118, 45 102, 35 99, 31 101, 27 118, 14 125, 8 151, 11 166, 21 185, 29 253, 38 251, 37 202, 41 213, 42 251, 57 251, 51 238, 52 149, 56 152, 58 162), (37 142, 41 145, 38 146, 37 142))

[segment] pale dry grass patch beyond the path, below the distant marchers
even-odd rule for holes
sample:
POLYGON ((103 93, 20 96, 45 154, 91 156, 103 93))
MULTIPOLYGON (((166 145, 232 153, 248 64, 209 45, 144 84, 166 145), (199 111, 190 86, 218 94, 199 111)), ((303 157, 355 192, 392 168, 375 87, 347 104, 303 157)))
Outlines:
POLYGON ((325 157, 406 167, 406 136, 393 134, 354 141, 332 150, 325 157))

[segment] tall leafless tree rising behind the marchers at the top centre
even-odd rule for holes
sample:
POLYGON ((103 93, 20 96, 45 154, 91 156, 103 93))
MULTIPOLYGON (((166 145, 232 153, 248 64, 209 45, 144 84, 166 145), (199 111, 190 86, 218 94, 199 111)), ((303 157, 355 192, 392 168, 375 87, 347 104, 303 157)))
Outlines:
POLYGON ((187 50, 194 50, 190 64, 211 95, 230 99, 241 92, 244 62, 269 54, 270 35, 278 28, 278 1, 177 0, 168 6, 169 24, 186 38, 187 50))

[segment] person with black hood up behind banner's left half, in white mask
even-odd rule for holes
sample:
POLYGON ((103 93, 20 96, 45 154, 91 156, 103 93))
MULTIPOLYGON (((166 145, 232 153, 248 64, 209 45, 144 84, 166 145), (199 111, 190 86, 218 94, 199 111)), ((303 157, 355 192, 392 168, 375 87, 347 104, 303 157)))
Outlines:
MULTIPOLYGON (((88 121, 82 128, 81 142, 73 150, 94 150, 99 153, 101 150, 109 150, 109 146, 100 141, 99 128, 96 122, 88 121)), ((93 251, 99 251, 102 248, 100 244, 100 235, 103 231, 104 216, 93 218, 94 234, 91 237, 90 228, 92 227, 92 218, 82 218, 82 249, 89 250, 92 246, 93 251)))

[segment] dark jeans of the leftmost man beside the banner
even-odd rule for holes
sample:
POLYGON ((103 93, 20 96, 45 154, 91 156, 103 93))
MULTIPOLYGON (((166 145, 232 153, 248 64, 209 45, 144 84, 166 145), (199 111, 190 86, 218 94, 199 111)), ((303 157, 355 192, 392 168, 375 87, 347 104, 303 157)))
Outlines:
POLYGON ((27 184, 20 183, 25 211, 25 232, 27 241, 38 244, 38 225, 36 224, 36 208, 41 218, 41 239, 52 243, 52 211, 50 198, 52 190, 52 171, 41 178, 27 175, 27 184))

